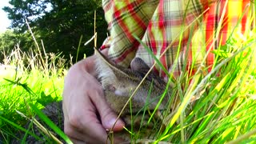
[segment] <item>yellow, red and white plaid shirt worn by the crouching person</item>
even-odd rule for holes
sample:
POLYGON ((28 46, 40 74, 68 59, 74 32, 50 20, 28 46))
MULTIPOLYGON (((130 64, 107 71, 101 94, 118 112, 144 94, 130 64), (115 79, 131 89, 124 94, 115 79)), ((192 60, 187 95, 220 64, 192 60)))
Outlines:
MULTIPOLYGON (((243 13, 235 32, 245 32, 249 4, 250 0, 102 0, 110 30, 110 38, 102 49, 109 47, 109 58, 119 65, 128 67, 134 57, 139 57, 152 66, 154 58, 134 38, 136 35, 166 70, 175 66, 174 76, 180 74, 186 58, 186 69, 193 73, 208 50, 225 44, 243 13), (170 44, 170 49, 160 58, 170 44), (177 54, 178 61, 175 61, 177 54)), ((209 53, 203 63, 210 70, 213 62, 214 54, 209 53)), ((154 70, 165 77, 159 66, 154 70)))

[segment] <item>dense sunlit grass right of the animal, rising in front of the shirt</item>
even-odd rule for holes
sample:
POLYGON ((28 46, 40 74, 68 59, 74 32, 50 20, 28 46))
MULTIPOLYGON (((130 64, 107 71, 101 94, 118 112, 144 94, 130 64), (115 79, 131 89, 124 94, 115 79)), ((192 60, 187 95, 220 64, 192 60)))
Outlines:
POLYGON ((174 98, 167 107, 171 111, 163 118, 166 128, 156 133, 155 142, 255 142, 255 47, 254 30, 246 37, 234 34, 225 46, 213 51, 217 58, 210 73, 201 64, 188 80, 183 70, 174 82, 174 98))

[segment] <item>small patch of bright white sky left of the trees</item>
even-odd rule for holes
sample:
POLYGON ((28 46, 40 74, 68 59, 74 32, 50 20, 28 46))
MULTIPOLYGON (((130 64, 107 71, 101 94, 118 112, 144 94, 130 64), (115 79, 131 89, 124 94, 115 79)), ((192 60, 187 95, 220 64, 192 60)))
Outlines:
POLYGON ((9 0, 0 0, 0 33, 6 31, 6 28, 10 26, 10 20, 7 18, 7 14, 2 8, 4 6, 10 6, 9 0))

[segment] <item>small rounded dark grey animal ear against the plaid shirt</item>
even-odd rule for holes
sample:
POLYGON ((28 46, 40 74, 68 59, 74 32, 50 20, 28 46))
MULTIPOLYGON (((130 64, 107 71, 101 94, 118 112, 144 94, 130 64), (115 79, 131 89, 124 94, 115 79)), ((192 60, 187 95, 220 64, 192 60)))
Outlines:
POLYGON ((146 65, 146 62, 142 60, 142 58, 134 58, 130 62, 131 70, 150 70, 150 67, 146 65))

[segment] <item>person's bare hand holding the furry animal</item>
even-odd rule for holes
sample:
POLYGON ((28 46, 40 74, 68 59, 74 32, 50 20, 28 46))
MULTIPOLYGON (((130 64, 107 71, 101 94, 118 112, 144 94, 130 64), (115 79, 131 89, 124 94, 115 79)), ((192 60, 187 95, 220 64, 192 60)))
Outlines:
MULTIPOLYGON (((107 50, 102 53, 107 55, 107 50)), ((117 118, 95 78, 94 59, 91 56, 71 66, 64 82, 64 131, 74 143, 106 143, 106 130, 112 128, 117 118)), ((118 119, 114 131, 123 126, 124 122, 118 119)))

